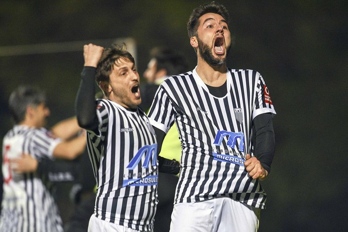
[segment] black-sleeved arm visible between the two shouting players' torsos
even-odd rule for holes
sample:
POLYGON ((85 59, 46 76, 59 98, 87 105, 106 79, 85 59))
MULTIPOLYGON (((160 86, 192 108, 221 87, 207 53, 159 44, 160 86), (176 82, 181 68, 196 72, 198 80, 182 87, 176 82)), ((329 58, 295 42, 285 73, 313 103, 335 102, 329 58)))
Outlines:
POLYGON ((157 159, 158 159, 158 168, 160 172, 178 174, 180 171, 180 163, 175 159, 171 160, 160 156, 163 140, 166 137, 166 133, 156 127, 153 127, 156 133, 157 139, 157 159))

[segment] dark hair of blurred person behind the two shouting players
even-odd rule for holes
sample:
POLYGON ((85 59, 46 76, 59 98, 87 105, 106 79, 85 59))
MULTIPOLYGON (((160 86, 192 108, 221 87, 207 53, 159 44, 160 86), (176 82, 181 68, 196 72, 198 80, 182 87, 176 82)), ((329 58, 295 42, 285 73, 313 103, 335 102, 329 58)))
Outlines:
POLYGON ((176 54, 170 48, 155 47, 150 51, 150 58, 156 60, 157 71, 165 69, 167 76, 177 75, 187 71, 184 56, 176 54))

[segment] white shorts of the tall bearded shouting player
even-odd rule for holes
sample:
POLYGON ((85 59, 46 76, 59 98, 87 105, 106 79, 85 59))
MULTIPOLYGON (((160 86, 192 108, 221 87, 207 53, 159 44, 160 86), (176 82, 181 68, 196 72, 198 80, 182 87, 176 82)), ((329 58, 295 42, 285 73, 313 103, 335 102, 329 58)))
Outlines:
POLYGON ((257 232, 260 212, 228 197, 177 203, 170 232, 257 232))

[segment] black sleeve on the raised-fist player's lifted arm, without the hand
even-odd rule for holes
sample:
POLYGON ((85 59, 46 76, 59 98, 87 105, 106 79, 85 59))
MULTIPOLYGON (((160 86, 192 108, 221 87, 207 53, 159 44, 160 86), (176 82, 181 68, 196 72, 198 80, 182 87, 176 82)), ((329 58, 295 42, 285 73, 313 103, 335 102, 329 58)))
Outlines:
POLYGON ((94 99, 96 69, 84 67, 78 94, 76 96, 76 116, 80 127, 86 130, 95 130, 98 126, 96 116, 96 105, 94 99))

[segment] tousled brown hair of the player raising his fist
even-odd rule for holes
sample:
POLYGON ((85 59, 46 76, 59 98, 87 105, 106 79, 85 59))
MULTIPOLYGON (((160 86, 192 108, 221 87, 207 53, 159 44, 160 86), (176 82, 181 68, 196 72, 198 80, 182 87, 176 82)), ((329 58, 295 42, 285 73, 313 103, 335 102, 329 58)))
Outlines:
POLYGON ((112 72, 113 66, 117 65, 117 62, 120 59, 125 59, 135 64, 135 60, 127 51, 127 45, 125 43, 123 43, 122 46, 113 44, 110 48, 104 49, 96 68, 95 81, 97 84, 99 84, 99 81, 110 80, 109 76, 112 72))

